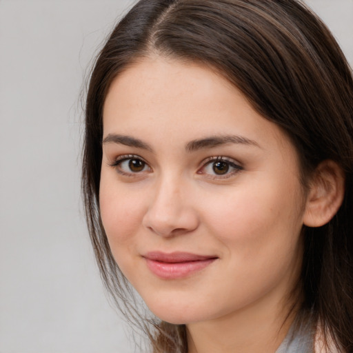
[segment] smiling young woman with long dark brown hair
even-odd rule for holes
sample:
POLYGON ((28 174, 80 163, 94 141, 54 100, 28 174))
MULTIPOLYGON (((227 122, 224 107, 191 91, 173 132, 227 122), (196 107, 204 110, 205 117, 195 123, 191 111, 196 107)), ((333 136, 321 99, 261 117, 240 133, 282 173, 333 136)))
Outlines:
POLYGON ((298 1, 130 10, 92 71, 83 194, 153 352, 353 352, 352 137, 352 72, 298 1))

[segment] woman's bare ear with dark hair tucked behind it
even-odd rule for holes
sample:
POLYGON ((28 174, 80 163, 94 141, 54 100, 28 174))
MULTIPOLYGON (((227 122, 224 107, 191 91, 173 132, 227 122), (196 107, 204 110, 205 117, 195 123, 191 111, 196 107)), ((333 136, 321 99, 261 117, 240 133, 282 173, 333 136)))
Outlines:
POLYGON ((345 176, 334 161, 321 162, 314 172, 307 195, 303 223, 308 227, 320 227, 337 213, 345 193, 345 176))

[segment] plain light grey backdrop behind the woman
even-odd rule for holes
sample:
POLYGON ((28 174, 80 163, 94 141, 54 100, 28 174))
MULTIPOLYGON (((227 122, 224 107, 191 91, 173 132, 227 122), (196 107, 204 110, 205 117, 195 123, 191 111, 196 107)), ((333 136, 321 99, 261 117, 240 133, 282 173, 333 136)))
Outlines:
MULTIPOLYGON (((310 0, 353 63, 353 0, 310 0)), ((0 0, 0 353, 130 353, 80 199, 80 92, 130 0, 0 0)))

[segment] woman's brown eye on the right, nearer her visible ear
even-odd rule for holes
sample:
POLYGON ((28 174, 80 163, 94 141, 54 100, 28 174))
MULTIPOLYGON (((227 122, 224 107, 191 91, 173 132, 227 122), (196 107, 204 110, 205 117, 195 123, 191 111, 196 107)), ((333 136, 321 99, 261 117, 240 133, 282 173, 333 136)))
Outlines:
POLYGON ((228 157, 210 157, 203 163, 203 167, 198 174, 207 174, 213 179, 228 178, 243 170, 241 165, 228 157))

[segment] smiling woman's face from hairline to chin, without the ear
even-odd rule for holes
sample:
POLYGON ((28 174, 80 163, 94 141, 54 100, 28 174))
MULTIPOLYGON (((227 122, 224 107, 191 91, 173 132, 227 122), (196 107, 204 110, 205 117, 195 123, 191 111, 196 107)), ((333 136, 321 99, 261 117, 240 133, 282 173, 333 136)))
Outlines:
POLYGON ((113 81, 101 218, 119 268, 164 321, 282 303, 304 205, 288 137, 210 68, 152 57, 113 81))

